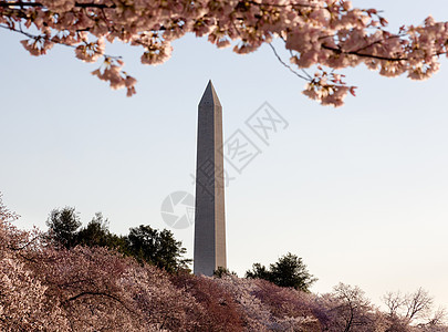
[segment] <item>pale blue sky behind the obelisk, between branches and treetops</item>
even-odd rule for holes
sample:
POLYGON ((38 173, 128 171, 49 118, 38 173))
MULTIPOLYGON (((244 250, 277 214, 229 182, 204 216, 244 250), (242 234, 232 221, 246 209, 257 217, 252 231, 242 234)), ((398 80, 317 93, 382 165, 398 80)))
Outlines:
MULTIPOLYGON (((354 3, 384 9, 392 27, 448 20, 444 0, 354 3)), ((304 82, 267 46, 241 56, 189 35, 150 68, 138 49, 114 44, 108 53, 138 80, 127 98, 70 49, 32 58, 21 37, 0 38, 0 190, 20 227, 44 229, 50 210, 69 205, 84 224, 102 211, 117 234, 165 228, 163 199, 194 193, 197 104, 211 79, 225 138, 264 101, 289 122, 227 189, 231 270, 291 251, 320 279, 315 292, 342 281, 379 302, 421 286, 448 307, 446 60, 427 82, 345 71, 360 89, 334 110, 302 96, 304 82)), ((192 257, 192 228, 174 234, 192 257)))

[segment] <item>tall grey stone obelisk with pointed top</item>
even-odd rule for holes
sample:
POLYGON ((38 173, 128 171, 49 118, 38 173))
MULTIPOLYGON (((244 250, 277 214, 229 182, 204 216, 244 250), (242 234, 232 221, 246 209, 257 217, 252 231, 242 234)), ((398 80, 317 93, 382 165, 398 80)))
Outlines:
POLYGON ((227 268, 222 107, 209 81, 198 106, 194 272, 219 267, 227 268))

